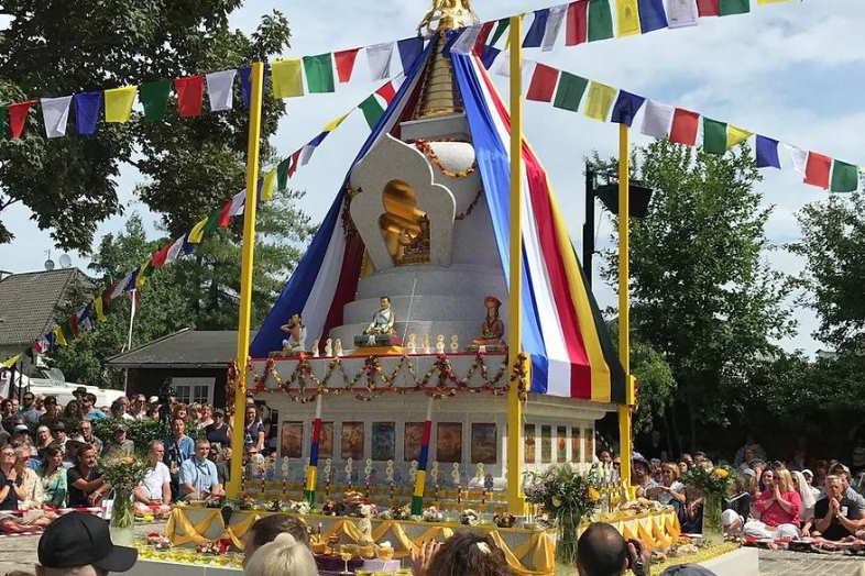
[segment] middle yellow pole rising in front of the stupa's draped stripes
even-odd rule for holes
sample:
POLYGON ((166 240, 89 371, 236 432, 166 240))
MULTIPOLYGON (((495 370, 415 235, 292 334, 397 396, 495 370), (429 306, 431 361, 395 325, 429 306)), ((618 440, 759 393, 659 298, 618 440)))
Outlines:
MULTIPOLYGON (((507 291, 507 366, 513 369, 519 362, 519 299, 522 289, 523 226, 523 18, 511 18, 511 266, 507 291)), ((519 448, 523 443, 523 403, 519 381, 511 380, 507 390, 507 510, 512 514, 525 513, 523 470, 519 448)))

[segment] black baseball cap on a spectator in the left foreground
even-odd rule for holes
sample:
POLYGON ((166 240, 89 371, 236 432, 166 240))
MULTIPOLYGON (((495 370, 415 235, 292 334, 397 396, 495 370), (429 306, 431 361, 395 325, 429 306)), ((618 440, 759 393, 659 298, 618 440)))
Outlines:
POLYGON ((39 563, 46 568, 92 565, 108 572, 127 572, 138 556, 138 550, 111 542, 108 522, 85 512, 59 517, 39 541, 39 563))

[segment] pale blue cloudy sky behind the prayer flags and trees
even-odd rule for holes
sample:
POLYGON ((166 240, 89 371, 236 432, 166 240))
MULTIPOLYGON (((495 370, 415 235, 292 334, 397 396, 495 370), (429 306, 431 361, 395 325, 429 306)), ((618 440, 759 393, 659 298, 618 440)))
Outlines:
MULTIPOLYGON (((696 27, 660 30, 652 34, 610 40, 576 47, 563 46, 560 37, 552 52, 525 51, 524 57, 596 79, 653 99, 699 111, 754 132, 776 137, 804 149, 813 149, 854 164, 865 164, 858 145, 865 132, 865 111, 855 96, 865 88, 865 12, 861 0, 791 0, 757 5, 749 14, 700 19, 696 27)), ((251 33, 261 16, 280 10, 289 21, 292 47, 284 56, 333 52, 398 40, 414 34, 430 3, 428 0, 377 0, 316 2, 248 1, 231 14, 232 26, 251 33)), ((551 5, 550 0, 475 0, 481 20, 551 5)), ((527 19, 528 24, 530 19, 527 19)), ((2 23, 0 22, 0 25, 2 23)), ((287 102, 272 143, 283 156, 314 137, 331 119, 357 106, 380 82, 368 81, 362 56, 355 77, 333 95, 315 95, 287 102)), ((397 65, 398 66, 398 65, 397 65)), ((496 80, 503 97, 507 90, 496 80)), ((581 250, 583 222, 583 157, 598 151, 602 157, 617 153, 617 126, 590 120, 581 113, 526 102, 524 131, 544 163, 569 232, 581 250)), ((635 126, 638 128, 639 117, 635 126)), ((633 145, 648 139, 632 131, 633 145)), ((331 203, 351 160, 369 135, 361 114, 352 114, 318 148, 292 186, 306 190, 302 208, 319 221, 331 203)), ((801 182, 792 170, 764 170, 757 188, 764 203, 774 207, 767 224, 769 240, 780 250, 766 254, 771 266, 786 273, 801 270, 802 262, 781 247, 800 235, 796 213, 809 202, 825 198, 823 190, 801 182)), ((99 225, 99 237, 122 229, 136 212, 153 237, 158 237, 158 217, 134 197, 140 176, 123 167, 119 195, 125 213, 99 225)), ((237 190, 227 190, 226 197, 237 190)), ((598 247, 610 245, 609 218, 600 217, 598 247)), ((0 245, 0 269, 14 273, 42 269, 48 256, 57 262, 62 252, 53 247, 47 231, 40 231, 29 211, 20 206, 4 210, 4 223, 15 234, 11 244, 0 245)), ((73 265, 86 268, 86 255, 69 254, 73 265)), ((602 308, 614 306, 616 295, 599 277, 595 257, 594 290, 602 308)), ((182 265, 182 264, 179 264, 182 265)), ((799 322, 798 334, 780 344, 787 350, 813 354, 821 343, 812 337, 817 319, 811 310, 788 302, 799 322)))

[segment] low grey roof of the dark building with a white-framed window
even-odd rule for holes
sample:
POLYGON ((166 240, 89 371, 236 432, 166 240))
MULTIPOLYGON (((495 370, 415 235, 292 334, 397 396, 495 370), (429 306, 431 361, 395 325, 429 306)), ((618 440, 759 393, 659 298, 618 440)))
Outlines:
POLYGON ((237 355, 236 330, 184 329, 111 356, 106 365, 112 368, 225 368, 237 355))

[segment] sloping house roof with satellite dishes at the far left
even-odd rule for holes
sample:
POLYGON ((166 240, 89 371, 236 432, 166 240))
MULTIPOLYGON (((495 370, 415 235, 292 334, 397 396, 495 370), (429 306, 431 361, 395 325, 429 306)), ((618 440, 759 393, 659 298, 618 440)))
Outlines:
POLYGON ((75 281, 92 284, 78 268, 13 274, 0 280, 0 345, 29 344, 44 334, 75 281))

